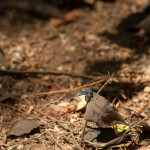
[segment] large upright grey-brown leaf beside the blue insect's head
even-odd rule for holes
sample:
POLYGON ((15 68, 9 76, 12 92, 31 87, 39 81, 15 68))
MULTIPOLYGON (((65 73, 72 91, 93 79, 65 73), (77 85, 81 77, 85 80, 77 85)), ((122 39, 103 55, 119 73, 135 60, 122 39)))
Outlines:
POLYGON ((101 128, 108 128, 115 124, 127 125, 113 105, 104 97, 93 92, 87 94, 85 99, 88 103, 84 115, 85 120, 94 121, 101 128))

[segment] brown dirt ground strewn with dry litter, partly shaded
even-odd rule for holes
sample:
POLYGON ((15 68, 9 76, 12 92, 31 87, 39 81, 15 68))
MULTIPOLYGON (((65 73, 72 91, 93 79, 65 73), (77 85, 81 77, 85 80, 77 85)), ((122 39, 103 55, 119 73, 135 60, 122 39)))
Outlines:
MULTIPOLYGON (((93 8, 76 8, 77 17, 59 26, 51 19, 39 19, 17 10, 1 14, 0 50, 4 54, 0 54, 0 67, 10 72, 0 74, 0 87, 9 97, 0 98, 0 150, 95 149, 84 142, 79 146, 85 110, 76 111, 77 99, 62 105, 46 104, 89 88, 98 91, 109 74, 114 74, 113 81, 100 94, 113 102, 124 118, 129 114, 121 106, 127 102, 132 103, 132 115, 138 114, 139 119, 150 117, 150 36, 142 29, 120 27, 126 18, 143 12, 149 4, 141 2, 96 1, 93 8), (38 73, 47 71, 51 72, 38 73), (81 87, 100 79, 103 82, 81 87), (79 88, 66 92, 75 87, 79 88), (7 138, 12 123, 23 118, 41 120, 46 125, 34 133, 7 138)), ((109 148, 139 149, 150 144, 143 139, 126 143, 109 148), (141 144, 143 141, 145 145, 141 144)))

